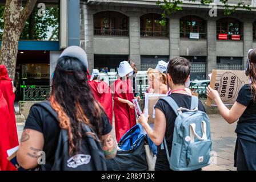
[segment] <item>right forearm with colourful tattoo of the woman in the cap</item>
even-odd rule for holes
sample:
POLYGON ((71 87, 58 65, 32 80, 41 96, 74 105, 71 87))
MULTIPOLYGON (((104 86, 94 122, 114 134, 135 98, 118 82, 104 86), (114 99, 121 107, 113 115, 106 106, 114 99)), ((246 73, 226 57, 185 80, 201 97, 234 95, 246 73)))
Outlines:
POLYGON ((115 155, 117 155, 117 140, 115 139, 114 130, 107 135, 103 135, 101 143, 106 159, 115 158, 115 155))

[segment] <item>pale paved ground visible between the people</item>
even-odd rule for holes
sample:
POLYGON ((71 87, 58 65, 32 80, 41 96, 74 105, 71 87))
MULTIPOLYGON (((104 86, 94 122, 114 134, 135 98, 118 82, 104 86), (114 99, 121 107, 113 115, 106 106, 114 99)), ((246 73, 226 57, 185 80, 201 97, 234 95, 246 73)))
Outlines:
MULTIPOLYGON (((213 150, 216 152, 214 163, 203 168, 205 171, 233 171, 236 123, 229 125, 220 115, 209 115, 211 119, 211 139, 213 150)), ((17 124, 19 138, 23 130, 23 123, 17 124)))

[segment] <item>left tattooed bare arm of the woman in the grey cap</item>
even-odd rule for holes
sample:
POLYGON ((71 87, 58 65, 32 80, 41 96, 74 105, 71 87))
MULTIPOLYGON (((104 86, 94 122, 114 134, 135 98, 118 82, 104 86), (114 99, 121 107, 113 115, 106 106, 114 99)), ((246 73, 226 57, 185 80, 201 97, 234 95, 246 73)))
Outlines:
POLYGON ((39 131, 25 129, 22 133, 17 161, 24 169, 33 169, 38 166, 38 158, 43 150, 43 134, 39 131))

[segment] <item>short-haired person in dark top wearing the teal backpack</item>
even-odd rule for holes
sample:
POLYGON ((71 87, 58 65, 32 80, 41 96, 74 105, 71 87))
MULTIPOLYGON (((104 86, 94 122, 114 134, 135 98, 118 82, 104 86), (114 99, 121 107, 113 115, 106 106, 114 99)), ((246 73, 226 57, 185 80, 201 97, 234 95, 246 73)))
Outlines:
MULTIPOLYGON (((189 79, 191 65, 189 61, 183 57, 177 57, 170 61, 167 67, 167 82, 172 92, 169 96, 177 102, 179 107, 190 109, 191 96, 185 90, 185 82, 189 79)), ((199 102, 198 109, 205 111, 202 102, 199 102)), ((155 120, 154 130, 147 123, 147 116, 142 114, 139 117, 139 123, 146 130, 150 139, 158 146, 157 162, 155 164, 156 171, 168 171, 170 165, 167 160, 165 150, 161 150, 163 138, 166 138, 166 143, 169 151, 173 143, 174 124, 177 115, 166 101, 159 100, 155 105, 155 120)))

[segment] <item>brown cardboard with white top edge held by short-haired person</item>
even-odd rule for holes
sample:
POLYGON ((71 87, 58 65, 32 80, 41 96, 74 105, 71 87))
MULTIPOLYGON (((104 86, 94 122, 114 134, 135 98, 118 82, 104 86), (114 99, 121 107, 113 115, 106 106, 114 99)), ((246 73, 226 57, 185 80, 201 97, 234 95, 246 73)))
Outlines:
POLYGON ((150 94, 147 97, 148 103, 148 114, 149 114, 149 123, 154 123, 155 119, 155 105, 157 104, 158 100, 162 97, 166 97, 165 94, 150 94))

